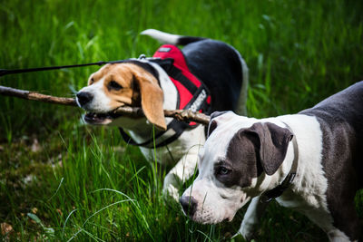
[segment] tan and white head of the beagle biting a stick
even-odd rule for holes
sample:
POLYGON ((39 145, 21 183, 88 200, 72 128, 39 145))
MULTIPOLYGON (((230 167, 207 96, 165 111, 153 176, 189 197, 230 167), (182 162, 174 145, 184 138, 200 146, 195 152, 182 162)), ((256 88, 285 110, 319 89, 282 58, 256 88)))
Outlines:
POLYGON ((104 65, 91 74, 88 86, 76 95, 77 104, 88 111, 84 121, 90 124, 111 124, 132 128, 137 121, 113 111, 123 105, 140 107, 148 121, 165 130, 162 110, 163 93, 152 73, 135 63, 104 65))

